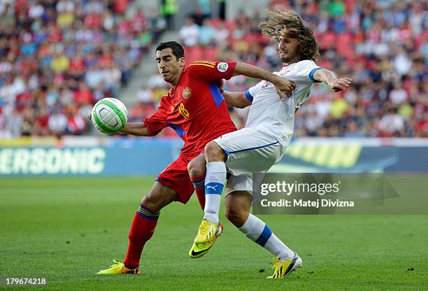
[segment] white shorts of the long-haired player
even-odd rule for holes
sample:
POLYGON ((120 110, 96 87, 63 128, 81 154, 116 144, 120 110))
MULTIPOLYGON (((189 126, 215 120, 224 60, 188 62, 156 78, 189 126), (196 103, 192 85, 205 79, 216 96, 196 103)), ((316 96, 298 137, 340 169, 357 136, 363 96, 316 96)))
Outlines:
POLYGON ((231 177, 226 194, 237 190, 252 194, 252 173, 265 173, 280 162, 285 151, 277 139, 254 127, 224 134, 214 141, 227 154, 226 169, 231 177))

